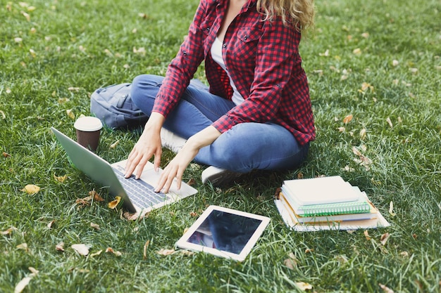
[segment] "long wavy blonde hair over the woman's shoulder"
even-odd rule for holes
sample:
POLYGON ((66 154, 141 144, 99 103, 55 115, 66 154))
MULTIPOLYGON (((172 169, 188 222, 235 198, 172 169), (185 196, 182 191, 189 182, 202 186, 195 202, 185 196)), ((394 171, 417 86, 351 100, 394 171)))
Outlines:
POLYGON ((313 0, 257 0, 257 10, 265 15, 263 20, 280 16, 284 25, 293 25, 300 32, 313 27, 316 13, 313 0))

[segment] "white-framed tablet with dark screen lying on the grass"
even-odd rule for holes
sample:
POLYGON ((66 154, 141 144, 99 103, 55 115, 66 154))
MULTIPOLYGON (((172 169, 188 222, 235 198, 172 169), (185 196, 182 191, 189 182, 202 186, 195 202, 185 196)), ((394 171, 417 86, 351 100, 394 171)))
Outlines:
POLYGON ((176 246, 243 261, 269 221, 266 216, 211 205, 176 246))

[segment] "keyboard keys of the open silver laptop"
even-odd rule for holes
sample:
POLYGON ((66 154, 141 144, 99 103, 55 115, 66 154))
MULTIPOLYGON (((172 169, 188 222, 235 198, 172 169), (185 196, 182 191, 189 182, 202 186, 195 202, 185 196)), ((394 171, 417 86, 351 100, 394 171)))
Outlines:
POLYGON ((130 197, 130 201, 137 207, 152 207, 159 202, 167 199, 164 193, 155 193, 154 187, 149 183, 135 179, 135 176, 129 178, 124 177, 125 169, 121 166, 113 167, 116 176, 118 177, 125 192, 130 197))

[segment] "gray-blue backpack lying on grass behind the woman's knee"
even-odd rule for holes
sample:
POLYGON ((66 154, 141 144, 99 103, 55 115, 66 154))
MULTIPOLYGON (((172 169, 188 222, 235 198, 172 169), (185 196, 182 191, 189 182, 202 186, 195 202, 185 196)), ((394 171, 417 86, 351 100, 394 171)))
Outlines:
POLYGON ((111 129, 135 129, 146 124, 145 115, 130 98, 131 84, 100 88, 90 97, 90 112, 111 129))

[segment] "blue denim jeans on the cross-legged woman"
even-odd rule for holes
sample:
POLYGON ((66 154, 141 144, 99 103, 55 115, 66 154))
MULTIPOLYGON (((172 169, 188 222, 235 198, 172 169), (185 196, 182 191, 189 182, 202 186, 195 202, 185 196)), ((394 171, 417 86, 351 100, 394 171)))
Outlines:
MULTIPOLYGON (((143 74, 132 82, 132 100, 150 115, 163 77, 143 74)), ((208 87, 192 80, 163 127, 183 138, 210 126, 235 103, 209 93, 208 87)), ((273 123, 247 122, 233 126, 216 141, 199 150, 194 162, 230 171, 295 169, 308 154, 309 143, 300 146, 290 131, 273 123)))

